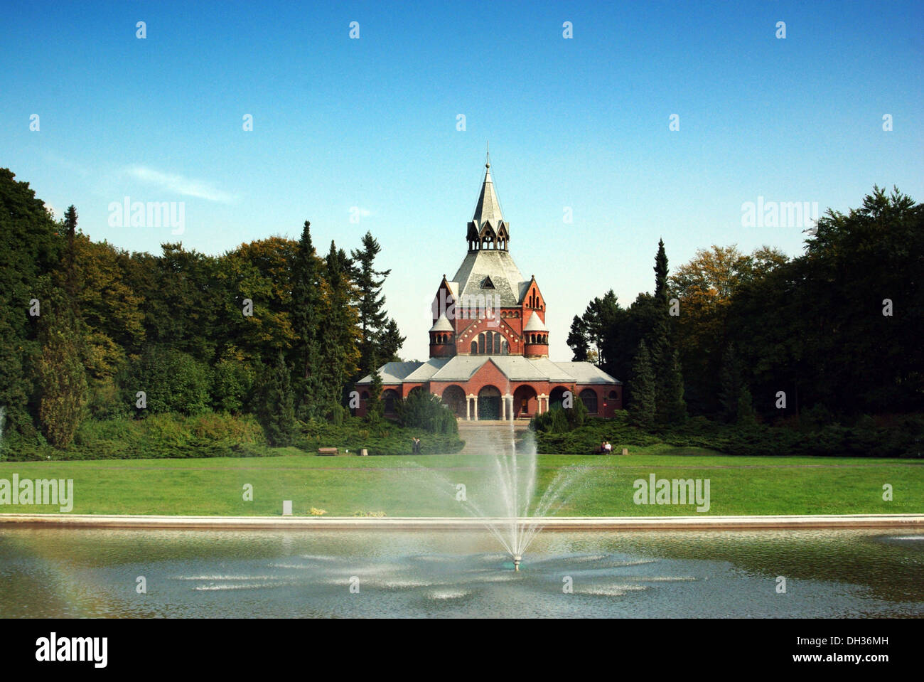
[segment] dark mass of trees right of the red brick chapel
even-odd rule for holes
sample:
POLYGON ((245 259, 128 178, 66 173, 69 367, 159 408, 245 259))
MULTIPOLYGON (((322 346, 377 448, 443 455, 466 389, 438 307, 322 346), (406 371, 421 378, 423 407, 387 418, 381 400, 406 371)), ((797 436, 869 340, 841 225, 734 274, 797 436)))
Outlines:
POLYGON ((829 210, 803 253, 697 251, 627 308, 612 290, 567 343, 627 383, 637 423, 858 419, 924 408, 924 204, 874 187, 829 210))

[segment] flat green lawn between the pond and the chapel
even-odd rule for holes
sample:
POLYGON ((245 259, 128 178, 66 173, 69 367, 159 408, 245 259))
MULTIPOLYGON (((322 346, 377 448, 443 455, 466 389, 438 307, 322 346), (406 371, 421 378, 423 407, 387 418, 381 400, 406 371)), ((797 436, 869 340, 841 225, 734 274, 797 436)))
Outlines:
MULTIPOLYGON (((731 457, 693 447, 631 448, 630 457, 538 457, 537 497, 558 469, 585 469, 558 516, 679 516, 693 505, 635 505, 633 481, 709 479, 709 515, 924 512, 924 462, 837 457, 731 457), (889 483, 894 500, 882 500, 889 483)), ((0 479, 73 479, 73 514, 278 515, 292 500, 328 516, 382 511, 463 516, 455 500, 488 506, 491 458, 477 456, 317 457, 281 448, 279 457, 2 462, 0 479), (253 501, 243 500, 253 486, 253 501)), ((0 505, 4 513, 57 512, 50 505, 0 505)))

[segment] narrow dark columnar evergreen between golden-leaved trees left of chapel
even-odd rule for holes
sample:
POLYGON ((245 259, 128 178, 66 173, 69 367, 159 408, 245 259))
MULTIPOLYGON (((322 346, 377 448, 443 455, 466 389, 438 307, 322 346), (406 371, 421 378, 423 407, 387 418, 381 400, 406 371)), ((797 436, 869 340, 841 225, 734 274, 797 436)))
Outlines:
POLYGON ((322 410, 321 273, 305 221, 292 263, 292 329, 295 333, 298 414, 316 417, 322 410))

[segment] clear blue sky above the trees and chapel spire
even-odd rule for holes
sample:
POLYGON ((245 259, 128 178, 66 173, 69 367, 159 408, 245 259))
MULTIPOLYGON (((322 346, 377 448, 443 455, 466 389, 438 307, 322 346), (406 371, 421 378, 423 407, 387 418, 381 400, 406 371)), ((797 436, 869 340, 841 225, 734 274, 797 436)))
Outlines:
POLYGON ((371 230, 408 359, 465 256, 486 140, 553 359, 590 298, 651 288, 659 237, 673 266, 711 244, 795 255, 803 225, 744 227, 742 204, 846 210, 874 183, 924 201, 920 2, 331 5, 7 4, 0 165, 127 250, 371 230), (185 201, 183 235, 108 225, 125 196, 185 201))

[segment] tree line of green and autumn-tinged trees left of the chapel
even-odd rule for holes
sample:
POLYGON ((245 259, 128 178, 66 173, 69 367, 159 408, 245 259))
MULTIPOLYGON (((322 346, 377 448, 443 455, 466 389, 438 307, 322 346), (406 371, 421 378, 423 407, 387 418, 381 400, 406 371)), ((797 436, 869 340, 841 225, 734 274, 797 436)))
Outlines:
POLYGON ((73 206, 55 220, 6 168, 0 203, 0 437, 67 447, 87 418, 213 409, 286 445, 404 343, 369 232, 349 254, 305 221, 297 241, 152 255, 92 241, 73 206))

